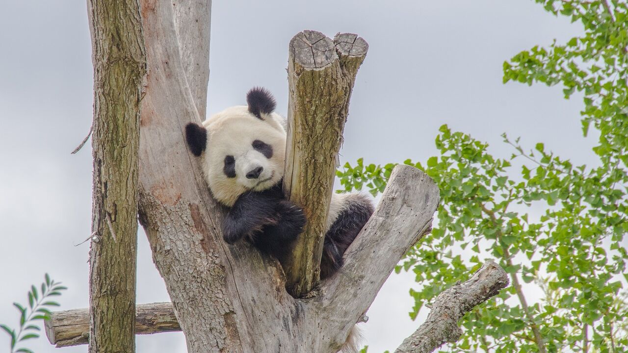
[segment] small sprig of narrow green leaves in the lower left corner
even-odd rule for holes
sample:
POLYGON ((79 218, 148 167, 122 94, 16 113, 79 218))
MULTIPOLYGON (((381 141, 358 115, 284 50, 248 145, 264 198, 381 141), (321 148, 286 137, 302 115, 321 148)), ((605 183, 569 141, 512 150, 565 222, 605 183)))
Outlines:
POLYGON ((33 285, 28 291, 28 307, 19 303, 13 303, 13 306, 19 312, 19 328, 13 329, 7 325, 0 325, 0 329, 11 337, 11 350, 9 352, 33 353, 32 350, 24 347, 18 348, 18 343, 24 340, 36 339, 39 337, 40 327, 36 325, 36 320, 48 320, 50 318, 50 310, 48 308, 58 307, 57 301, 52 301, 52 296, 59 296, 61 292, 67 290, 60 282, 50 279, 46 273, 45 281, 41 283, 41 291, 33 285), (16 332, 17 331, 17 332, 16 332))

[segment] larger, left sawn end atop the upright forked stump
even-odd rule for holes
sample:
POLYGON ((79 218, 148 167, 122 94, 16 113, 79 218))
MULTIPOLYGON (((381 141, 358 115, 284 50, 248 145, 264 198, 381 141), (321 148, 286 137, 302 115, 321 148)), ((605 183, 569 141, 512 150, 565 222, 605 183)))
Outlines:
POLYGON ((290 55, 304 68, 325 68, 338 58, 333 41, 323 33, 305 30, 290 41, 290 55))

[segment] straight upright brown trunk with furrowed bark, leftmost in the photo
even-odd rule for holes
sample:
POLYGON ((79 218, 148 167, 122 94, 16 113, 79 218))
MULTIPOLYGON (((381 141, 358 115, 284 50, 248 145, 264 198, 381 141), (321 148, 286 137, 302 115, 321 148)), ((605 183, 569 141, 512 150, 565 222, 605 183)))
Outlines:
POLYGON ((94 63, 90 352, 134 352, 139 109, 146 53, 137 0, 89 0, 94 63))

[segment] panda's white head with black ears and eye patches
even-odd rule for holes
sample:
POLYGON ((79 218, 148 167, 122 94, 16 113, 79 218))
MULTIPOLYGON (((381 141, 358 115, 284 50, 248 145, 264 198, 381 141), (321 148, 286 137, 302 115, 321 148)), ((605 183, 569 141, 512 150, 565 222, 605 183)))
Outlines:
POLYGON ((228 207, 242 193, 266 190, 283 178, 286 131, 273 112, 274 97, 254 88, 246 100, 248 106, 227 108, 202 126, 185 126, 188 148, 200 157, 212 194, 228 207))

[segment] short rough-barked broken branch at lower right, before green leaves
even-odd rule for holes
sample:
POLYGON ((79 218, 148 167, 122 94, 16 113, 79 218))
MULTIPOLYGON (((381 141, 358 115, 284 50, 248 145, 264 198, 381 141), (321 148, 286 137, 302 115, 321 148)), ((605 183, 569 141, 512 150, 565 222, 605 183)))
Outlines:
POLYGON ((395 353, 430 353, 445 342, 456 342, 462 335, 458 320, 476 305, 497 295, 508 282, 506 271, 493 261, 487 261, 468 281, 440 293, 427 320, 395 353))

